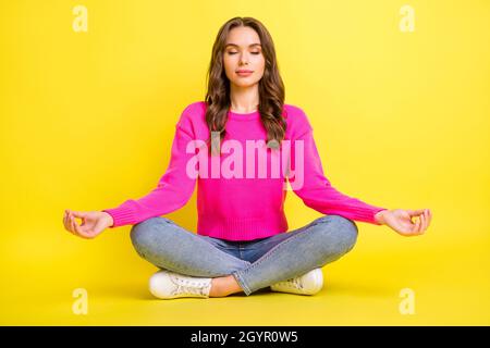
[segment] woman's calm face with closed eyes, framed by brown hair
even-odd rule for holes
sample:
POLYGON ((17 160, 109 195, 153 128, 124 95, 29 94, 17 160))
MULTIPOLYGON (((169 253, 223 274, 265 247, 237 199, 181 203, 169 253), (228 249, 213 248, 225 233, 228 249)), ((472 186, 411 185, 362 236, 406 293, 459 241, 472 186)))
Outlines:
POLYGON ((257 84, 262 78, 266 65, 257 32, 248 26, 231 29, 224 47, 223 64, 231 84, 238 87, 257 84), (252 73, 241 75, 240 70, 252 71, 252 73))

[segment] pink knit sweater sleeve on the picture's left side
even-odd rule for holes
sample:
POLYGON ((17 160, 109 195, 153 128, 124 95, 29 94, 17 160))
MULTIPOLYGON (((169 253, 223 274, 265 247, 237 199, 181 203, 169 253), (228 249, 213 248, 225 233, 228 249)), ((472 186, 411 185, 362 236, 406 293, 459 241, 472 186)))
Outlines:
POLYGON ((196 178, 186 173, 186 163, 194 156, 194 152, 186 153, 186 146, 193 140, 192 128, 186 127, 186 117, 182 114, 175 125, 170 163, 157 187, 139 199, 128 199, 117 208, 102 210, 113 219, 111 228, 170 213, 189 200, 196 178))

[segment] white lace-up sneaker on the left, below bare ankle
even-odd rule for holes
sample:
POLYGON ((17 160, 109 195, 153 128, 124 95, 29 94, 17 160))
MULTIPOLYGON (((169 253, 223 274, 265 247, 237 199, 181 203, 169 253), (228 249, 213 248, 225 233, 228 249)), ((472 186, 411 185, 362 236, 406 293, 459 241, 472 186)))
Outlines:
POLYGON ((201 278, 161 270, 149 279, 150 293, 161 299, 179 297, 208 298, 211 278, 201 278))

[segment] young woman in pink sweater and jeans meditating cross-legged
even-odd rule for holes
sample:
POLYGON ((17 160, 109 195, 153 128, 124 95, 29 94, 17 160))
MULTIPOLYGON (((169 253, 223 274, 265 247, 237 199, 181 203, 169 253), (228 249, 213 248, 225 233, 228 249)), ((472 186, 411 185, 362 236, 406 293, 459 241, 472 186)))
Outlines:
POLYGON ((354 221, 403 236, 429 226, 428 209, 370 206, 331 186, 305 112, 284 103, 274 45, 259 21, 234 17, 220 28, 207 83, 206 100, 187 105, 175 125, 157 188, 113 209, 64 213, 65 228, 84 238, 132 224, 137 253, 159 268, 149 281, 156 297, 248 296, 265 288, 314 295, 323 284, 321 268, 354 247, 354 221), (182 208, 196 182, 197 234, 160 216, 182 208), (324 215, 287 232, 286 183, 324 215))

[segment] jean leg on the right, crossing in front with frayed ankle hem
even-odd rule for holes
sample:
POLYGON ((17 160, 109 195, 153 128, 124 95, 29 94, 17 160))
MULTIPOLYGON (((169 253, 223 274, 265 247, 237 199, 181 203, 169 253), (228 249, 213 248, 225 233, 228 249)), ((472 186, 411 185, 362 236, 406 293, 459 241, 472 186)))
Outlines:
POLYGON ((248 268, 232 273, 247 296, 338 260, 354 247, 358 228, 350 219, 326 215, 287 234, 248 268))

